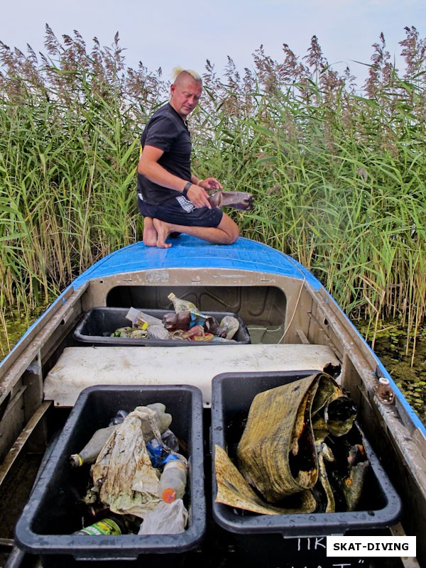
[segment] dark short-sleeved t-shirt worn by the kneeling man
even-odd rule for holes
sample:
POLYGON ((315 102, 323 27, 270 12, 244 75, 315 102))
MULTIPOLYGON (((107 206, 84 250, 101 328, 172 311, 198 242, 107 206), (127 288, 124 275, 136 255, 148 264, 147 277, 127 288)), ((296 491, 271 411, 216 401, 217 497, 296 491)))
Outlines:
MULTIPOLYGON (((170 103, 155 111, 141 136, 141 146, 163 150, 158 163, 182 180, 191 179, 191 137, 187 125, 170 103)), ((158 205, 182 192, 169 190, 138 173, 138 193, 149 204, 158 205)))

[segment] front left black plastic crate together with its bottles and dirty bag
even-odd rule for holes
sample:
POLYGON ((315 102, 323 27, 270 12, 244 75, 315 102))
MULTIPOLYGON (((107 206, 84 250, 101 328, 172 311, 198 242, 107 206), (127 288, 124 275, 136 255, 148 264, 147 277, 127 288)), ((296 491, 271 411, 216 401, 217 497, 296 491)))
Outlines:
MULTIPOLYGON (((155 425, 159 423, 155 421, 155 425)), ((166 516, 171 514, 168 511, 169 509, 166 510, 166 516)), ((170 520, 166 519, 165 522, 170 526, 170 520)), ((43 567, 47 568, 95 567, 98 564, 153 567, 163 566, 164 562, 180 566, 185 555, 200 546, 205 530, 200 390, 185 385, 138 388, 93 386, 80 393, 65 422, 50 459, 41 471, 33 493, 18 520, 16 541, 22 550, 40 555, 43 567), (151 439, 151 436, 147 437, 146 434, 151 432, 151 426, 146 430, 146 415, 149 420, 153 420, 153 417, 155 419, 156 415, 152 410, 157 406, 155 403, 165 405, 163 415, 168 417, 170 414, 171 423, 165 432, 161 431, 160 443, 156 443, 160 452, 143 454, 136 451, 136 446, 133 449, 131 444, 136 444, 136 437, 142 435, 145 449, 155 447, 153 442, 156 438, 151 439), (146 408, 150 409, 149 412, 144 410, 146 408), (90 465, 94 458, 86 462, 87 454, 80 450, 88 447, 87 442, 93 439, 95 432, 106 427, 113 428, 114 437, 109 438, 109 442, 104 445, 96 464, 90 465), (163 443, 165 437, 170 435, 175 444, 171 450, 167 444, 170 444, 170 447, 172 444, 168 440, 163 443), (167 449, 165 453, 164 445, 167 449), (129 455, 124 454, 126 451, 129 455), (155 479, 158 482, 158 475, 155 477, 153 474, 153 466, 158 466, 157 460, 160 461, 160 457, 163 459, 166 454, 173 459, 180 457, 187 464, 186 492, 182 498, 175 500, 175 503, 180 501, 181 510, 187 513, 187 525, 182 532, 179 529, 175 534, 154 533, 152 528, 148 528, 148 531, 145 531, 148 534, 145 534, 142 526, 150 513, 147 511, 146 515, 143 514, 145 520, 142 520, 141 508, 155 510, 157 506, 162 506, 167 509, 173 504, 164 503, 160 497, 155 501, 155 496, 153 497, 153 493, 160 493, 152 486, 155 479), (120 459, 125 462, 121 463, 120 459), (114 460, 119 466, 116 471, 112 470, 114 460), (102 477, 101 493, 99 489, 94 488, 95 472, 98 468, 102 477), (104 476, 105 471, 107 475, 104 476), (117 471, 122 479, 117 479, 117 471), (125 489, 123 484, 126 485, 125 489), (106 487, 109 487, 111 493, 105 490, 106 487), (99 496, 102 496, 102 501, 99 496), (119 526, 120 531, 117 532, 127 533, 104 534, 108 531, 103 531, 103 521, 99 521, 102 518, 112 518, 112 524, 115 522, 119 526), (99 522, 100 525, 97 524, 99 522), (101 525, 102 529, 99 529, 101 525), (84 528, 87 528, 89 533, 84 534, 84 528)))

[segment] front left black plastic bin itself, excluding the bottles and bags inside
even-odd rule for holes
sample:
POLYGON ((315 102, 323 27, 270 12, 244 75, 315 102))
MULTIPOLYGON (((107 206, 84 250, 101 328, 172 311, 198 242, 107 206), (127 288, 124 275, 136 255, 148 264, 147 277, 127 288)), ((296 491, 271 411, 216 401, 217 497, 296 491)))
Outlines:
MULTIPOLYGON (((186 497, 185 497, 186 500, 186 497)), ((21 549, 40 555, 43 567, 180 566, 204 539, 206 503, 202 395, 193 386, 94 386, 82 391, 16 525, 21 549), (89 466, 72 469, 78 452, 117 410, 161 402, 178 439, 187 444, 189 521, 177 535, 71 535, 81 528, 77 504, 87 491, 89 466)))

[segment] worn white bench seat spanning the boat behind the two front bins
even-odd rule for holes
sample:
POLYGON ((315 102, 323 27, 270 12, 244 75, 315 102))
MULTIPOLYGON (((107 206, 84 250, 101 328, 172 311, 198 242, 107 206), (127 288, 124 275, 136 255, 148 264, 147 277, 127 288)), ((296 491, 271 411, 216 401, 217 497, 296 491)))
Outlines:
POLYGON ((185 384, 200 388, 209 407, 212 378, 219 373, 315 372, 329 365, 340 366, 332 349, 312 344, 67 347, 46 376, 44 398, 73 406, 94 385, 185 384))

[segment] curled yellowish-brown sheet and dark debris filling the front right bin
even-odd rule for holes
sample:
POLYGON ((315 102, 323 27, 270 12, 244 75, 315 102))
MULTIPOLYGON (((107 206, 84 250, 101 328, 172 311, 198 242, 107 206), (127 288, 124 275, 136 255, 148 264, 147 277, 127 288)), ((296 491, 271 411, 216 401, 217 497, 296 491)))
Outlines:
POLYGON ((369 462, 356 406, 327 373, 258 393, 215 446, 217 503, 242 514, 356 510, 369 462))

